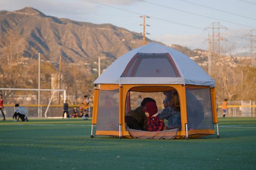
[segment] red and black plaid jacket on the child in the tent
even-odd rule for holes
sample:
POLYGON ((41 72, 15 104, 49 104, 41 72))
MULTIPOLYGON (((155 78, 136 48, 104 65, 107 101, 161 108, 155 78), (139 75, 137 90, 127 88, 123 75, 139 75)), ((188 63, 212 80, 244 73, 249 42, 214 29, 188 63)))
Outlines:
POLYGON ((159 114, 157 116, 148 117, 147 131, 161 131, 164 127, 164 121, 159 120, 159 114))

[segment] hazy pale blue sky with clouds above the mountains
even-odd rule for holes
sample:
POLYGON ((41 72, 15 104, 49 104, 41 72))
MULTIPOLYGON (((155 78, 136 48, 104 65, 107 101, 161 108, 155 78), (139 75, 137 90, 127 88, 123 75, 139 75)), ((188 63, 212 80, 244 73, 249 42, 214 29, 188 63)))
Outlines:
POLYGON ((208 48, 208 33, 212 35, 213 25, 215 32, 220 25, 222 45, 235 52, 250 45, 250 33, 256 40, 254 0, 1 0, 0 10, 15 11, 28 5, 45 15, 111 23, 138 33, 143 31, 140 16, 147 15, 148 38, 190 49, 208 48))

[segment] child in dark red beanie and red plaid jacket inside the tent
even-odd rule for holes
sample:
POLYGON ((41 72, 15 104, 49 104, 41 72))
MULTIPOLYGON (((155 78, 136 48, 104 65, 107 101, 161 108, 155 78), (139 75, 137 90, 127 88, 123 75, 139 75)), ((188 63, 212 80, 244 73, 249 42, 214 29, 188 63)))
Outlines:
POLYGON ((145 104, 143 111, 147 116, 147 131, 162 131, 164 128, 163 120, 159 120, 156 103, 149 101, 145 104))

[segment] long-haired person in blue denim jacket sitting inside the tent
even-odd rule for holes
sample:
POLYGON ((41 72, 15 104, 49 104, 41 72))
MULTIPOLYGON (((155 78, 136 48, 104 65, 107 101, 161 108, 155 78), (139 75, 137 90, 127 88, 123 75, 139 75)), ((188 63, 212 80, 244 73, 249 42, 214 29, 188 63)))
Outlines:
POLYGON ((181 127, 180 117, 180 100, 177 91, 172 92, 170 96, 166 96, 163 101, 164 109, 159 114, 160 119, 166 119, 168 121, 168 128, 179 128, 181 127))

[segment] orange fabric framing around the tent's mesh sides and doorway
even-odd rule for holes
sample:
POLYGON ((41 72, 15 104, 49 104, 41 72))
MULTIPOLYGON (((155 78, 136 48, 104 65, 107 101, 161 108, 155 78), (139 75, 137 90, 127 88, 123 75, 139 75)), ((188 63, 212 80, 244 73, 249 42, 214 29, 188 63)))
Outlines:
POLYGON ((169 88, 174 88, 178 91, 180 96, 180 108, 181 108, 181 131, 177 133, 177 139, 188 139, 188 138, 198 138, 204 135, 215 134, 214 130, 211 129, 198 129, 198 130, 188 130, 187 124, 187 105, 186 105, 186 88, 198 88, 210 89, 211 95, 211 106, 212 106, 212 116, 213 123, 217 124, 217 137, 219 138, 218 129, 218 118, 217 118, 217 106, 215 100, 215 89, 209 86, 196 86, 196 85, 182 85, 182 84, 95 84, 94 88, 94 102, 93 102, 93 115, 92 115, 92 129, 91 137, 93 138, 93 125, 97 125, 97 114, 98 114, 98 103, 99 103, 99 90, 117 90, 119 89, 119 131, 112 130, 96 130, 95 135, 109 135, 116 136, 120 139, 122 137, 130 138, 130 134, 125 129, 125 106, 126 106, 126 96, 130 89, 137 88, 140 92, 159 92, 166 91, 169 88))

